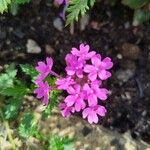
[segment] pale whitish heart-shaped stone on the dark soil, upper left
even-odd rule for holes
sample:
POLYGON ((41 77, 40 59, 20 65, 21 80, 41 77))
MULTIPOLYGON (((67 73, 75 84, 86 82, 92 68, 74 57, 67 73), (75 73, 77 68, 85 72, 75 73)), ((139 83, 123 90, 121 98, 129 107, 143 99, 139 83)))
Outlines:
POLYGON ((27 53, 30 53, 30 54, 39 54, 39 53, 41 53, 41 48, 32 39, 28 39, 27 44, 26 44, 26 48, 27 48, 27 53))

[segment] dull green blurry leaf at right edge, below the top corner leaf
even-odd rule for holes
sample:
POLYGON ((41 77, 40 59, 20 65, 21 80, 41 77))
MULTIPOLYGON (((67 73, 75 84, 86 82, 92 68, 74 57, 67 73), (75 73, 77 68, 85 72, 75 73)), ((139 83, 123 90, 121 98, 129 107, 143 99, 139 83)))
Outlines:
POLYGON ((150 10, 138 9, 134 12, 133 25, 137 26, 150 20, 150 10))

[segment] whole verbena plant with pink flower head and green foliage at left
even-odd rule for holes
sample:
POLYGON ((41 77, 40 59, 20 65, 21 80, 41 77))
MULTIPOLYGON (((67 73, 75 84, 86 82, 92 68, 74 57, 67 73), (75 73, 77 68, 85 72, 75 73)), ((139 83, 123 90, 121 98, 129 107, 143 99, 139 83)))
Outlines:
POLYGON ((27 95, 36 94, 36 98, 46 105, 41 114, 43 120, 51 115, 55 106, 60 108, 63 117, 80 113, 90 124, 98 123, 105 116, 107 111, 103 104, 109 92, 104 88, 103 81, 111 77, 111 59, 102 59, 100 54, 90 51, 89 45, 80 44, 79 48, 72 48, 65 61, 65 76, 52 70, 51 57, 47 57, 46 62, 39 61, 36 68, 28 64, 5 66, 5 71, 0 75, 0 120, 8 138, 4 134, 0 136, 4 142, 8 139, 12 149, 18 148, 14 139, 16 136, 23 143, 29 137, 34 137, 44 143, 40 145, 42 148, 50 150, 72 149, 72 139, 45 135, 40 131, 39 119, 25 100, 27 95), (66 98, 60 99, 63 91, 66 98), (10 129, 14 128, 14 123, 18 125, 12 133, 10 129))

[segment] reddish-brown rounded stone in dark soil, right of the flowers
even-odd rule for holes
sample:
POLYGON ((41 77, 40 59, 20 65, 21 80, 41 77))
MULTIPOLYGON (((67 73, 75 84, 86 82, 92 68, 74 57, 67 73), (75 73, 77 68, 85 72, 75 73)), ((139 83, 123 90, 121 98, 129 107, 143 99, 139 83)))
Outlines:
POLYGON ((140 48, 134 44, 124 43, 120 48, 120 53, 125 58, 137 60, 140 55, 140 48))

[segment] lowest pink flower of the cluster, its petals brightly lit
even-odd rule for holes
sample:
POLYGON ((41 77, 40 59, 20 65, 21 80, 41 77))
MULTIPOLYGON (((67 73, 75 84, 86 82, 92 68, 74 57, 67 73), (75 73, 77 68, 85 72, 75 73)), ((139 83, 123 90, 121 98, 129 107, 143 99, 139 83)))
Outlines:
POLYGON ((93 122, 98 123, 98 115, 103 117, 105 116, 106 112, 107 111, 105 107, 97 105, 94 107, 88 107, 84 109, 82 115, 83 118, 87 118, 88 122, 92 124, 93 122))

